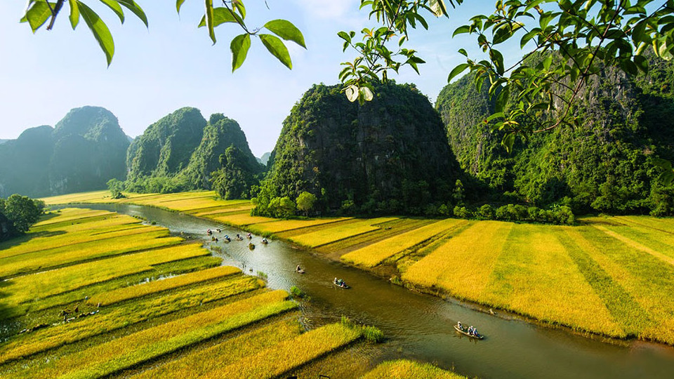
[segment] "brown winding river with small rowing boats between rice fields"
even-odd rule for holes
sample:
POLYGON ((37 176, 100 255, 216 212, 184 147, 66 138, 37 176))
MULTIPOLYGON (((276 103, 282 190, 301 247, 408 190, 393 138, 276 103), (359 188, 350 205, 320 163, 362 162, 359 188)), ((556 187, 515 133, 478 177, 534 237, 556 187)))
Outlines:
POLYGON ((417 359, 482 379, 674 378, 673 347, 640 341, 607 343, 502 312, 491 316, 476 310, 475 305, 411 292, 284 241, 270 240, 264 245, 254 236, 256 248, 251 251, 247 239, 232 239, 227 244, 221 238, 244 234, 242 230, 190 215, 127 204, 81 207, 141 216, 173 233, 183 232, 219 246, 220 252, 214 251, 214 255, 223 258, 223 265, 242 267, 249 274, 264 272, 270 288, 288 291, 297 286, 311 298, 302 305, 308 324, 333 322, 345 315, 377 326, 387 338, 377 360, 417 359), (217 244, 206 236, 207 229, 215 231, 216 227, 222 229, 216 233, 220 237, 217 244), (294 272, 296 265, 306 273, 294 272), (335 277, 351 288, 333 286, 335 277), (487 337, 476 341, 458 335, 452 327, 456 321, 476 326, 487 337))

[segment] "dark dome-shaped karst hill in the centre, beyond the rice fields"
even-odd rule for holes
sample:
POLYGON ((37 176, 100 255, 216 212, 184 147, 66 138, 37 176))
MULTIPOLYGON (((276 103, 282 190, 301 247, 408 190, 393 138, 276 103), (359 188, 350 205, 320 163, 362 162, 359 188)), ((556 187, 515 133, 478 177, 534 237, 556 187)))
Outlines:
POLYGON ((313 86, 293 107, 265 187, 291 199, 311 192, 330 209, 395 212, 447 197, 459 170, 428 99, 388 84, 359 106, 340 90, 313 86))

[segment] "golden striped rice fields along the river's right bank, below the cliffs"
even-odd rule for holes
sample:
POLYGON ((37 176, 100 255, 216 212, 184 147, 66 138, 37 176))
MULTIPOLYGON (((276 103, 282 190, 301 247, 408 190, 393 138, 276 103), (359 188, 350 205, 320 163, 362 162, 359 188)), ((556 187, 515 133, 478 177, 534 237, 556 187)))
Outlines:
POLYGON ((674 345, 674 221, 582 218, 578 227, 409 218, 275 220, 213 192, 46 199, 158 206, 313 248, 428 293, 544 324, 674 345), (392 270, 391 270, 392 271, 392 270))

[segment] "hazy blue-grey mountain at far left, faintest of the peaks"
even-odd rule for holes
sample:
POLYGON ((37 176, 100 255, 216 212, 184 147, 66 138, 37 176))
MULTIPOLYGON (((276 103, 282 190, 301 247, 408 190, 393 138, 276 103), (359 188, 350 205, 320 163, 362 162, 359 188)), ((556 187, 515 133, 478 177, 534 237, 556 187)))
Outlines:
POLYGON ((56 124, 24 131, 0 145, 0 196, 31 197, 104 189, 124 179, 128 141, 101 107, 72 109, 56 124))

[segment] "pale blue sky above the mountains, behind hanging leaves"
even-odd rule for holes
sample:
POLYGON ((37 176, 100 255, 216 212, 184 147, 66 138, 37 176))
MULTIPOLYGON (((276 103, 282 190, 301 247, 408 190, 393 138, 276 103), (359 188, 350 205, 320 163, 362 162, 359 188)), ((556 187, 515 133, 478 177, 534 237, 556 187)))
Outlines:
MULTIPOLYGON (((176 109, 196 107, 206 119, 223 113, 236 120, 260 157, 274 148, 283 120, 303 93, 312 84, 337 84, 340 62, 355 58, 355 52, 343 53, 337 32, 376 25, 358 10, 359 0, 267 0, 268 9, 265 1, 248 0, 249 27, 289 20, 303 32, 307 49, 287 42, 293 60, 293 69, 287 69, 253 38, 246 62, 232 73, 229 42, 241 33, 236 25, 216 28, 218 43, 212 44, 206 29, 197 28, 201 1, 185 1, 180 15, 173 0, 136 1, 149 28, 130 11, 121 25, 98 1, 85 2, 112 32, 110 67, 84 20, 72 30, 67 3, 53 30, 32 34, 18 22, 26 1, 0 2, 0 139, 17 138, 34 126, 55 126, 70 109, 85 105, 109 109, 124 133, 136 137, 176 109)), ((472 0, 449 8, 449 19, 428 13, 429 30, 414 31, 406 44, 427 62, 419 66, 421 75, 405 67, 390 78, 416 84, 435 102, 451 69, 465 62, 458 49, 479 53, 474 37, 452 39, 452 32, 470 15, 491 13, 493 7, 493 0, 472 0)))

